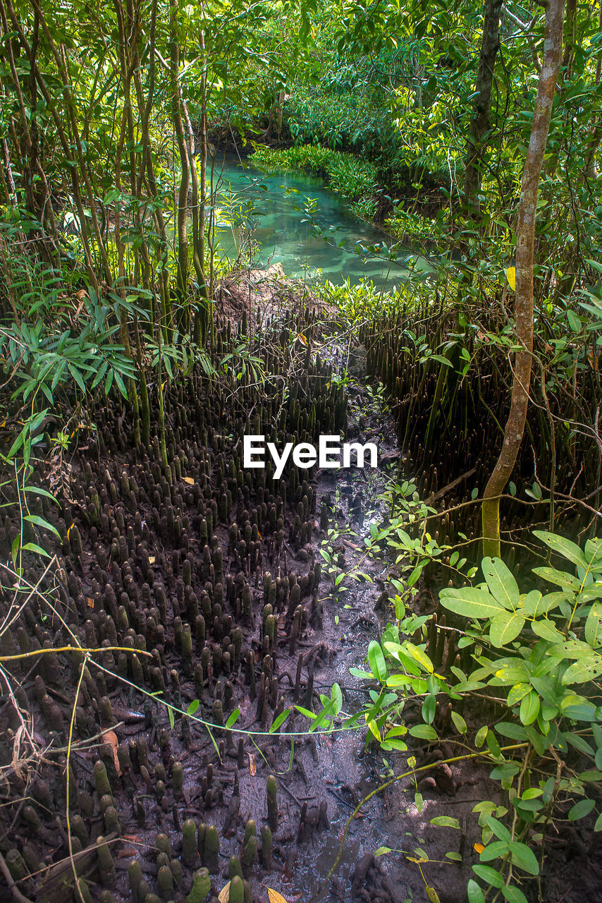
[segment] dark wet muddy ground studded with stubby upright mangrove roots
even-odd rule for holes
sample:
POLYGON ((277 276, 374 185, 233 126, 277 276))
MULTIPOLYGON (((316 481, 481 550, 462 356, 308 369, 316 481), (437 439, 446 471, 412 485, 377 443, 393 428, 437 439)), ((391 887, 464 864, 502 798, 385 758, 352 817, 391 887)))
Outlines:
MULTIPOLYGON (((293 397, 282 402, 249 387, 238 403, 223 387, 208 389, 195 379, 174 390, 167 405, 169 473, 156 436, 150 448, 136 450, 127 414, 97 410, 97 437, 64 462, 60 517, 52 514, 60 571, 41 589, 54 609, 34 593, 3 635, 2 651, 78 643, 115 648, 89 656, 74 720, 69 813, 85 898, 156 903, 157 894, 166 903, 187 897, 197 903, 193 878, 207 867, 211 898, 240 875, 246 903, 263 903, 268 888, 291 903, 405 903, 428 899, 425 882, 441 903, 455 903, 464 899, 478 861, 472 809, 499 795, 486 771, 470 763, 440 765, 422 777, 420 813, 411 779, 363 806, 324 885, 356 805, 401 773, 412 755, 419 764, 457 755, 453 725, 436 747, 411 740, 407 754, 385 756, 375 744, 366 749, 361 729, 309 734, 310 721, 298 712, 269 733, 295 703, 320 712, 320 694, 329 696, 335 682, 347 713, 374 689, 349 668, 365 665, 369 641, 390 616, 383 595, 390 562, 364 562, 371 580, 346 580, 347 590, 335 593, 320 548, 351 570, 370 524, 387 516, 377 497, 405 466, 394 419, 366 379, 361 349, 349 361, 347 343, 317 322, 315 305, 296 313, 307 349, 291 341, 282 297, 274 297, 275 288, 255 291, 272 277, 256 275, 250 290, 240 281, 225 286, 223 347, 227 323, 236 338, 243 303, 250 303, 257 328, 260 303, 275 331, 273 344, 259 342, 257 353, 292 377, 293 397), (347 366, 352 377, 338 380, 347 366), (245 420, 249 412, 252 423, 245 420), (282 439, 339 428, 351 440, 375 439, 379 466, 287 470, 279 482, 245 472, 241 435, 260 427, 270 433, 274 423, 282 439), (171 715, 164 702, 173 706, 171 715), (220 730, 236 709, 233 730, 220 730), (268 806, 270 776, 276 792, 268 806), (460 829, 431 825, 435 815, 457 818, 460 829), (375 859, 382 847, 391 852, 375 859), (412 861, 425 858, 421 867, 412 861)), ((294 292, 285 294, 290 299, 294 292)), ((10 517, 3 530, 6 546, 14 534, 10 517)), ((5 591, 4 614, 11 599, 5 591)), ((418 605, 422 613, 434 609, 426 588, 418 605)), ((0 710, 0 900, 68 903, 65 753, 79 664, 73 653, 60 653, 10 667, 14 695, 5 694, 0 710)), ((409 703, 405 716, 420 721, 419 703, 409 703)), ((563 850, 569 855, 570 847, 563 850)), ((579 858, 579 847, 573 855, 579 858)), ((597 898, 595 882, 578 874, 571 880, 597 898)), ((578 898, 560 877, 550 888, 553 903, 561 895, 578 898)))

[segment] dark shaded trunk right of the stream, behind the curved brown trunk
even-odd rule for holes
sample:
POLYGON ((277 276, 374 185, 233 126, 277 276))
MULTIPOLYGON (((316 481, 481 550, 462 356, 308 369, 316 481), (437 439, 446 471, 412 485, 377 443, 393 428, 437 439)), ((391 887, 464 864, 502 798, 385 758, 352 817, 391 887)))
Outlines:
POLYGON ((483 179, 486 133, 491 122, 491 88, 494 83, 495 57, 500 46, 500 9, 502 0, 486 0, 483 19, 483 41, 478 61, 475 92, 475 115, 468 130, 466 149, 466 173, 464 176, 464 203, 473 214, 478 214, 478 195, 483 179))

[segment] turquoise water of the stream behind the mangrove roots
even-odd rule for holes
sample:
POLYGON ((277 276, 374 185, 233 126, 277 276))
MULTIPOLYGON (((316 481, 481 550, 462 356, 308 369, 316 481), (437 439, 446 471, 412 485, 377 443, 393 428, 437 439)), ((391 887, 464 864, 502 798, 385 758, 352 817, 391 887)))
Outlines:
POLYGON ((393 288, 406 281, 410 268, 423 276, 430 272, 407 248, 396 252, 393 264, 382 250, 379 256, 375 249, 383 243, 390 248, 392 239, 358 219, 320 179, 226 162, 214 182, 219 241, 231 261, 251 242, 253 266, 280 263, 286 275, 308 281, 321 274, 335 284, 371 279, 379 288, 393 288))

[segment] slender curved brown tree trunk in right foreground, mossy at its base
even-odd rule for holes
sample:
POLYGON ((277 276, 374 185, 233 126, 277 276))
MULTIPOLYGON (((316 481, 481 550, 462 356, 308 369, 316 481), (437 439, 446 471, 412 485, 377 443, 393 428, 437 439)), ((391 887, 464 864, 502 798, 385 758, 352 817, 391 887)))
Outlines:
POLYGON ((524 161, 521 200, 516 227, 516 340, 522 346, 514 357, 510 414, 505 424, 502 451, 487 482, 482 508, 483 552, 500 554, 499 497, 510 479, 523 441, 529 404, 533 351, 533 259, 537 192, 550 131, 551 106, 562 52, 564 0, 545 3, 543 64, 533 110, 531 139, 524 161))

